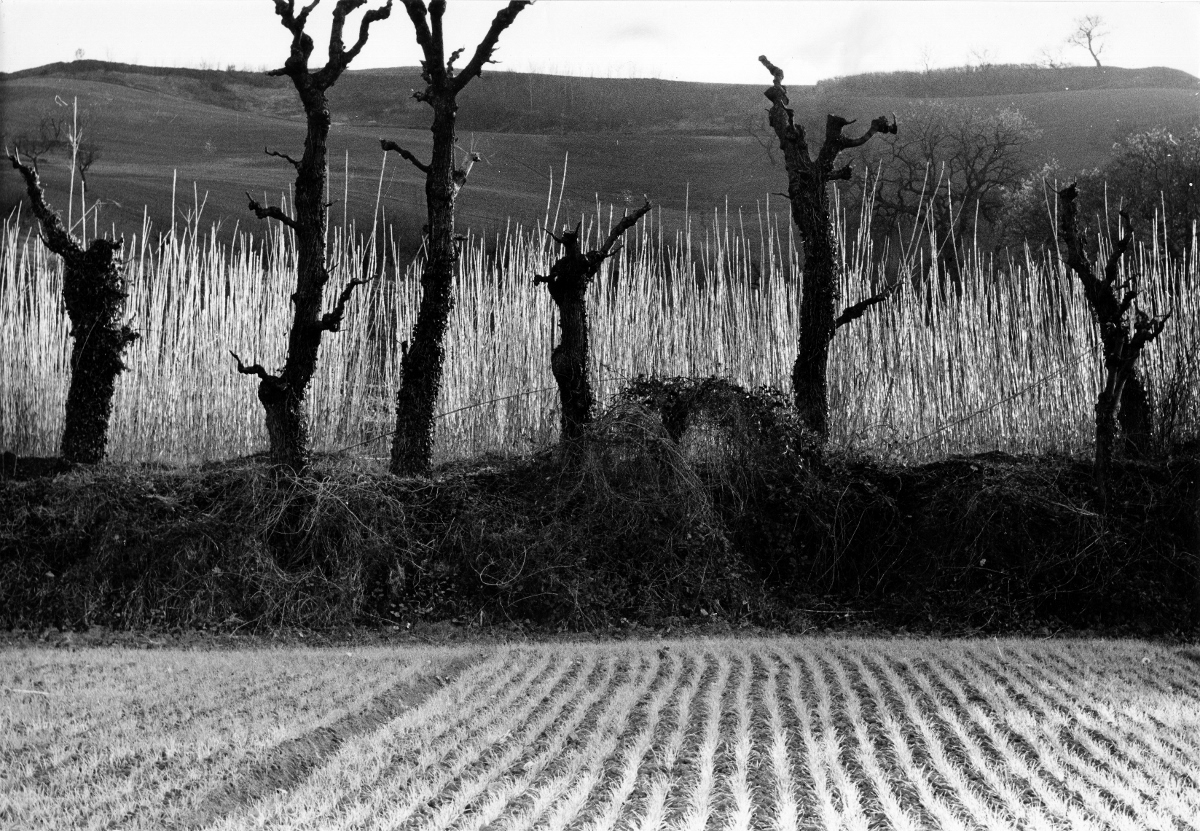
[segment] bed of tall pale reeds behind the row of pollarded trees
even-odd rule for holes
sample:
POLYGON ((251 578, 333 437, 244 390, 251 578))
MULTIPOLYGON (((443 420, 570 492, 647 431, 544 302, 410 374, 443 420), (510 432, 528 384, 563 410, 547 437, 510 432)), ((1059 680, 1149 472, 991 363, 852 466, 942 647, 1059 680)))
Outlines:
MULTIPOLYGON (((547 223, 558 219, 547 211, 547 223)), ((595 240, 619 217, 596 205, 580 219, 595 240)), ((0 227, 0 448, 50 455, 68 378, 61 264, 19 228, 17 217, 0 227)), ((196 220, 158 235, 144 226, 130 241, 128 317, 142 339, 118 383, 114 460, 196 464, 265 448, 256 382, 238 375, 229 357, 233 349, 269 367, 283 360, 294 240, 262 229, 202 233, 196 220)), ((968 252, 959 291, 943 291, 923 276, 936 240, 908 240, 899 257, 874 251, 865 232, 846 243, 846 304, 884 282, 900 288, 833 342, 835 443, 900 461, 997 449, 1087 452, 1100 378, 1097 335, 1076 281, 1060 264, 1028 251, 998 259, 968 252)), ((728 209, 691 216, 673 234, 649 215, 592 289, 600 402, 638 373, 720 375, 788 390, 797 247, 786 215, 769 202, 752 217, 728 209)), ((353 227, 330 232, 330 303, 350 276, 378 279, 352 301, 342 331, 323 342, 310 389, 313 448, 382 460, 421 262, 397 265, 394 245, 353 227), (391 256, 376 257, 389 247, 391 256)), ((520 454, 554 440, 554 312, 533 285, 553 257, 544 231, 518 225, 464 244, 437 460, 520 454)), ((1196 372, 1200 274, 1194 258, 1184 269, 1158 240, 1139 245, 1134 262, 1144 306, 1174 311, 1142 364, 1152 393, 1160 393, 1178 367, 1196 372)), ((1195 401, 1180 418, 1194 435, 1195 401)))

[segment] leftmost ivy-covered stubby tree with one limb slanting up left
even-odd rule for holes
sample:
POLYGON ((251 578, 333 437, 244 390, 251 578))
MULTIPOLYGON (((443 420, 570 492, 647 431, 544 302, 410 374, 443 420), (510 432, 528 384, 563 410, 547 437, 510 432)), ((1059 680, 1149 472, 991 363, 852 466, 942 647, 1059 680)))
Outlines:
POLYGON ((125 347, 138 339, 128 325, 119 324, 126 298, 118 258, 121 240, 98 238, 84 249, 46 202, 36 166, 22 163, 14 154, 8 160, 25 179, 46 246, 62 258, 62 300, 71 318, 72 339, 62 458, 95 464, 108 448, 113 390, 116 376, 125 369, 121 357, 125 347))

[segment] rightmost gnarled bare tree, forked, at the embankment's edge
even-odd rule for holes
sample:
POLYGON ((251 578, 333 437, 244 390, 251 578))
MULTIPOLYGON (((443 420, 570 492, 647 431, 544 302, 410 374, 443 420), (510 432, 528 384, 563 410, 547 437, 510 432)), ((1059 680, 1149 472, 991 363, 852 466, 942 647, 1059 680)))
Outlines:
POLYGON ((1134 309, 1138 298, 1136 277, 1124 283, 1117 283, 1121 259, 1129 250, 1129 215, 1121 211, 1121 227, 1124 235, 1112 240, 1112 252, 1109 255, 1102 277, 1096 275, 1092 262, 1084 253, 1084 245, 1076 229, 1078 207, 1074 185, 1058 191, 1062 209, 1058 217, 1058 238, 1067 251, 1067 267, 1075 273, 1084 285, 1084 297, 1092 310, 1092 317, 1100 328, 1100 342, 1104 349, 1104 389, 1096 399, 1096 460, 1092 466, 1092 479, 1100 503, 1109 504, 1109 480, 1112 473, 1112 450, 1116 443, 1117 412, 1121 407, 1126 383, 1134 372, 1134 364, 1142 348, 1162 334, 1170 312, 1152 317, 1140 309, 1134 309), (1117 292, 1122 292, 1117 297, 1117 292), (1130 327, 1129 312, 1134 312, 1130 327))

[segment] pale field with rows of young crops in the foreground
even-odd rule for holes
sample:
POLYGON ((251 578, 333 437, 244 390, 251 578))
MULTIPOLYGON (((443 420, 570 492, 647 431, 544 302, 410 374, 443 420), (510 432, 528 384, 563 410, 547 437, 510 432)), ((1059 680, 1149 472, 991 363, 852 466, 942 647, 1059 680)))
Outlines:
POLYGON ((1144 642, 30 648, 0 686, 20 827, 1200 827, 1200 653, 1144 642))

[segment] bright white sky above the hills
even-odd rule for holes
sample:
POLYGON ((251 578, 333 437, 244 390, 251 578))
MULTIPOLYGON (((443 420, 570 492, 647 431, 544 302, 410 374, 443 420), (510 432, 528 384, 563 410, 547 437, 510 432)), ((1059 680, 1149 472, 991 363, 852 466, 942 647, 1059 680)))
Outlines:
MULTIPOLYGON (((310 22, 318 44, 313 65, 328 43, 334 5, 324 0, 310 22)), ((470 54, 503 5, 450 0, 448 47, 470 54)), ((810 84, 1046 56, 1088 65, 1086 52, 1066 43, 1085 14, 1105 22, 1104 64, 1200 76, 1200 0, 538 0, 500 38, 494 68, 761 83, 766 70, 757 58, 766 54, 788 83, 810 84)), ((358 16, 350 22, 348 32, 356 32, 358 16)), ((150 66, 266 70, 282 65, 288 43, 271 0, 0 0, 4 72, 72 60, 80 50, 150 66)), ((352 68, 418 60, 397 0, 352 68)))

